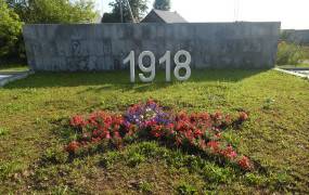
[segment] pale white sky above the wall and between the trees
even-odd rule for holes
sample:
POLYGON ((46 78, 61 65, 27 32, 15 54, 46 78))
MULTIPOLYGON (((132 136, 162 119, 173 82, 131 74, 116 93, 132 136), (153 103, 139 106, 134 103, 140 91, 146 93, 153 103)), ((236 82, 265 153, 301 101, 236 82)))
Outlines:
MULTIPOLYGON (((111 11, 113 0, 95 1, 102 13, 111 11)), ((171 10, 189 22, 280 21, 282 28, 309 29, 309 0, 171 0, 171 10)))

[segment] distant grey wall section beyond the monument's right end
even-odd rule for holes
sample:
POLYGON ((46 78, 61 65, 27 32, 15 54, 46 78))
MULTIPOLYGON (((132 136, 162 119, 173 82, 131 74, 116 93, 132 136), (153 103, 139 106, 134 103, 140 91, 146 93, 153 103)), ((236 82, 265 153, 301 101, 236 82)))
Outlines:
POLYGON ((287 42, 294 42, 298 44, 309 44, 309 29, 295 30, 287 29, 282 30, 283 39, 287 42))

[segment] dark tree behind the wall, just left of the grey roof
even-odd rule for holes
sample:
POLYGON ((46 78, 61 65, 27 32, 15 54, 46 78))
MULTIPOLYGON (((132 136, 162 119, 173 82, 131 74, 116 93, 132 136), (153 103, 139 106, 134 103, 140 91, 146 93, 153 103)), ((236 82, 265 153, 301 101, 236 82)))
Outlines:
MULTIPOLYGON (((128 0, 128 2, 130 3, 134 20, 141 21, 149 9, 147 0, 128 0)), ((124 22, 125 23, 132 22, 127 0, 115 0, 114 2, 111 2, 110 6, 113 8, 112 13, 105 13, 102 22, 120 23, 121 22, 120 4, 123 4, 124 22)))

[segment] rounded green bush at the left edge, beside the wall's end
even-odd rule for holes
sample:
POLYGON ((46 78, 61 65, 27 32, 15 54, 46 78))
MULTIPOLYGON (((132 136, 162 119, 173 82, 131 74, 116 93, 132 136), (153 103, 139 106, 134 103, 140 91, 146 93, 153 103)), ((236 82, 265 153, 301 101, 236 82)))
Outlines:
POLYGON ((8 8, 4 0, 0 0, 0 57, 16 52, 22 25, 18 15, 8 8))

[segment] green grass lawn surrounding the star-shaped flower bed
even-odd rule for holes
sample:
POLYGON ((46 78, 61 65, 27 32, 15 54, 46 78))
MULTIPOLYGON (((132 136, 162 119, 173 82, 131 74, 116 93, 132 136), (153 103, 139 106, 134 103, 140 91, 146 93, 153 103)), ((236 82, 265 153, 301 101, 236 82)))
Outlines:
POLYGON ((309 193, 309 82, 274 70, 199 70, 188 82, 129 83, 128 73, 37 73, 0 89, 0 194, 309 193), (250 119, 223 136, 259 161, 245 173, 155 142, 69 161, 67 118, 155 99, 176 110, 250 119))

